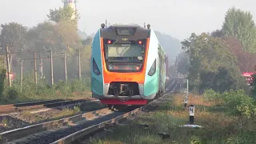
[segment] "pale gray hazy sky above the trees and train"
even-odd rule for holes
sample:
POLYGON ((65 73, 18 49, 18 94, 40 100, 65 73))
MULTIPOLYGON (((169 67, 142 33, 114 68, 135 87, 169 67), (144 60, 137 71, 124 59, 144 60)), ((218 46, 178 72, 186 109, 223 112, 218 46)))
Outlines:
MULTIPOLYGON (((47 20, 50 9, 63 6, 61 0, 0 0, 0 23, 19 22, 36 26, 47 20)), ((250 10, 256 19, 254 0, 78 0, 79 29, 94 33, 102 22, 150 23, 151 28, 179 39, 192 32, 220 29, 226 11, 235 6, 250 10)))

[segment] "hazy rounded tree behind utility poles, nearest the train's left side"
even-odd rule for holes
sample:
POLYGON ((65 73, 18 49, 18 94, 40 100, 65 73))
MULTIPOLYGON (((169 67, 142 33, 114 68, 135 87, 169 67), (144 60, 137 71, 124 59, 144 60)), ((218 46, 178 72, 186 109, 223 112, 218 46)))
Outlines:
MULTIPOLYGON (((42 57, 49 56, 50 53, 45 52, 46 50, 53 50, 54 56, 56 53, 66 51, 67 56, 67 73, 68 78, 77 78, 78 71, 78 57, 75 57, 78 54, 78 49, 81 49, 83 54, 82 39, 79 37, 77 30, 70 22, 65 20, 59 21, 58 23, 54 22, 42 22, 38 26, 30 29, 26 35, 27 43, 26 47, 29 50, 41 50, 37 52, 37 56, 41 55, 42 57)), ((86 55, 90 55, 87 54, 86 55)), ((62 57, 62 54, 58 54, 62 57)), ((22 57, 26 57, 23 55, 22 57)), ((82 55, 81 55, 82 56, 82 55)), ((83 57, 83 56, 82 56, 83 57)), ((82 60, 82 58, 81 58, 82 60)), ((44 71, 50 71, 50 61, 44 63, 44 71)), ((87 62, 88 63, 88 62, 87 62)), ((82 63, 82 66, 86 64, 82 63)), ((24 66, 27 66, 29 63, 24 63, 24 66)), ((89 67, 89 64, 87 64, 89 67)), ((46 74, 46 78, 50 78, 50 73, 46 74)), ((63 61, 61 58, 54 58, 54 81, 65 78, 63 70, 63 61)), ((49 79, 50 82, 50 79, 49 79)))

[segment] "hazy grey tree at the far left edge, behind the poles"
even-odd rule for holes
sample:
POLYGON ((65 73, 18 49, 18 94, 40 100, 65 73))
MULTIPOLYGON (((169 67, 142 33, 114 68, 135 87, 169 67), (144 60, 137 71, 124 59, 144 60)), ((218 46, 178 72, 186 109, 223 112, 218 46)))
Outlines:
MULTIPOLYGON (((17 22, 10 22, 1 25, 0 42, 3 45, 10 44, 11 51, 23 50, 26 42, 26 27, 17 22)), ((18 59, 14 56, 17 54, 10 54, 10 66, 17 64, 18 59)))

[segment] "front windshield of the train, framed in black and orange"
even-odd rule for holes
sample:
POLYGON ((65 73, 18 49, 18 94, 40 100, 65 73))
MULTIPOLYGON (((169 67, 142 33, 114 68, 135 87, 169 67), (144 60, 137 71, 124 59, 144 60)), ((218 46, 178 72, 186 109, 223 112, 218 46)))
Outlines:
POLYGON ((105 47, 106 65, 110 71, 133 72, 142 69, 145 45, 107 44, 105 47))

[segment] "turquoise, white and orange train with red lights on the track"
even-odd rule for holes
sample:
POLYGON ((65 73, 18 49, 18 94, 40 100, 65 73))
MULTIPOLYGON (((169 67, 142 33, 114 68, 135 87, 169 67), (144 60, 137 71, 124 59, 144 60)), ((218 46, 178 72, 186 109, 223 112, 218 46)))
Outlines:
POLYGON ((150 25, 102 23, 91 49, 92 98, 110 109, 143 106, 164 93, 166 54, 150 25))

